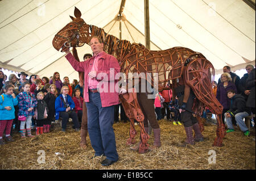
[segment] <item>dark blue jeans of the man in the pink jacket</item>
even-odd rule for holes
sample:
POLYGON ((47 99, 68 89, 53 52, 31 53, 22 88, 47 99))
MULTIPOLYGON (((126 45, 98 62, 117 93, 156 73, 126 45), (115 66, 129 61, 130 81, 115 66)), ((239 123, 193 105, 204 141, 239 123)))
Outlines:
POLYGON ((95 155, 104 154, 106 158, 117 161, 118 154, 112 127, 114 123, 114 106, 102 107, 99 92, 93 93, 89 91, 89 101, 86 102, 88 133, 95 155))

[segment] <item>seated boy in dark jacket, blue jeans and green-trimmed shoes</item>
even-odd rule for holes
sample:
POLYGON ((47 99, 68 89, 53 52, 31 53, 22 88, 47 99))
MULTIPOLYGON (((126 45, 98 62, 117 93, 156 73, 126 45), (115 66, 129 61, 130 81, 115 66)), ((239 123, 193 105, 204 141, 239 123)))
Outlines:
POLYGON ((245 121, 243 121, 244 117, 250 115, 250 108, 246 107, 245 98, 242 95, 236 94, 234 90, 227 91, 228 98, 230 99, 230 110, 227 111, 225 115, 226 124, 228 125, 227 133, 233 132, 234 127, 232 124, 232 117, 235 117, 237 124, 239 125, 241 131, 245 136, 250 135, 250 131, 245 125, 245 121))

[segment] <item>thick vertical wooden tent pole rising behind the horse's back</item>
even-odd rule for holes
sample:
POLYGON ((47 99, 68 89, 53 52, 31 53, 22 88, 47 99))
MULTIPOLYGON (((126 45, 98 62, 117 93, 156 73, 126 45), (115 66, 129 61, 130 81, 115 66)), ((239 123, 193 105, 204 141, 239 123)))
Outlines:
POLYGON ((145 43, 146 48, 150 49, 150 21, 148 7, 148 0, 144 0, 145 43))

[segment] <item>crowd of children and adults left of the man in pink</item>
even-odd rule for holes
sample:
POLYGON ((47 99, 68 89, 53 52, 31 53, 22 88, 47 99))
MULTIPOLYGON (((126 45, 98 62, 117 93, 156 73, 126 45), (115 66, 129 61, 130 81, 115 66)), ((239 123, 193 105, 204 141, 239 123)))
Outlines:
POLYGON ((55 72, 51 77, 42 77, 20 72, 18 77, 10 74, 4 79, 0 70, 0 145, 14 141, 11 134, 20 133, 21 138, 35 137, 50 132, 51 124, 62 118, 61 131, 65 132, 69 117, 75 131, 80 131, 82 117, 82 91, 84 89, 76 79, 72 85, 69 78, 55 72))

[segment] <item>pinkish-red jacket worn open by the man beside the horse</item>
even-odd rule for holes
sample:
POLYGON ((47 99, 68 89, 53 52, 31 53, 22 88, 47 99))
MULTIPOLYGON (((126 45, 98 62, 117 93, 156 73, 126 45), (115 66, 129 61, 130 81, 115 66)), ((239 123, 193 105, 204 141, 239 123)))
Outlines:
MULTIPOLYGON (((76 58, 73 57, 72 53, 68 53, 65 57, 76 71, 84 71, 84 101, 89 102, 88 73, 92 70, 94 57, 83 62, 78 62, 76 58)), ((96 73, 99 76, 97 80, 99 82, 104 81, 107 85, 107 91, 100 91, 102 107, 109 107, 119 103, 118 90, 110 90, 110 87, 112 89, 118 83, 119 77, 115 75, 120 72, 120 69, 117 58, 105 52, 98 54, 96 73), (101 73, 104 73, 104 76, 103 74, 101 76, 101 73)), ((102 84, 102 86, 104 86, 104 84, 102 84)))

